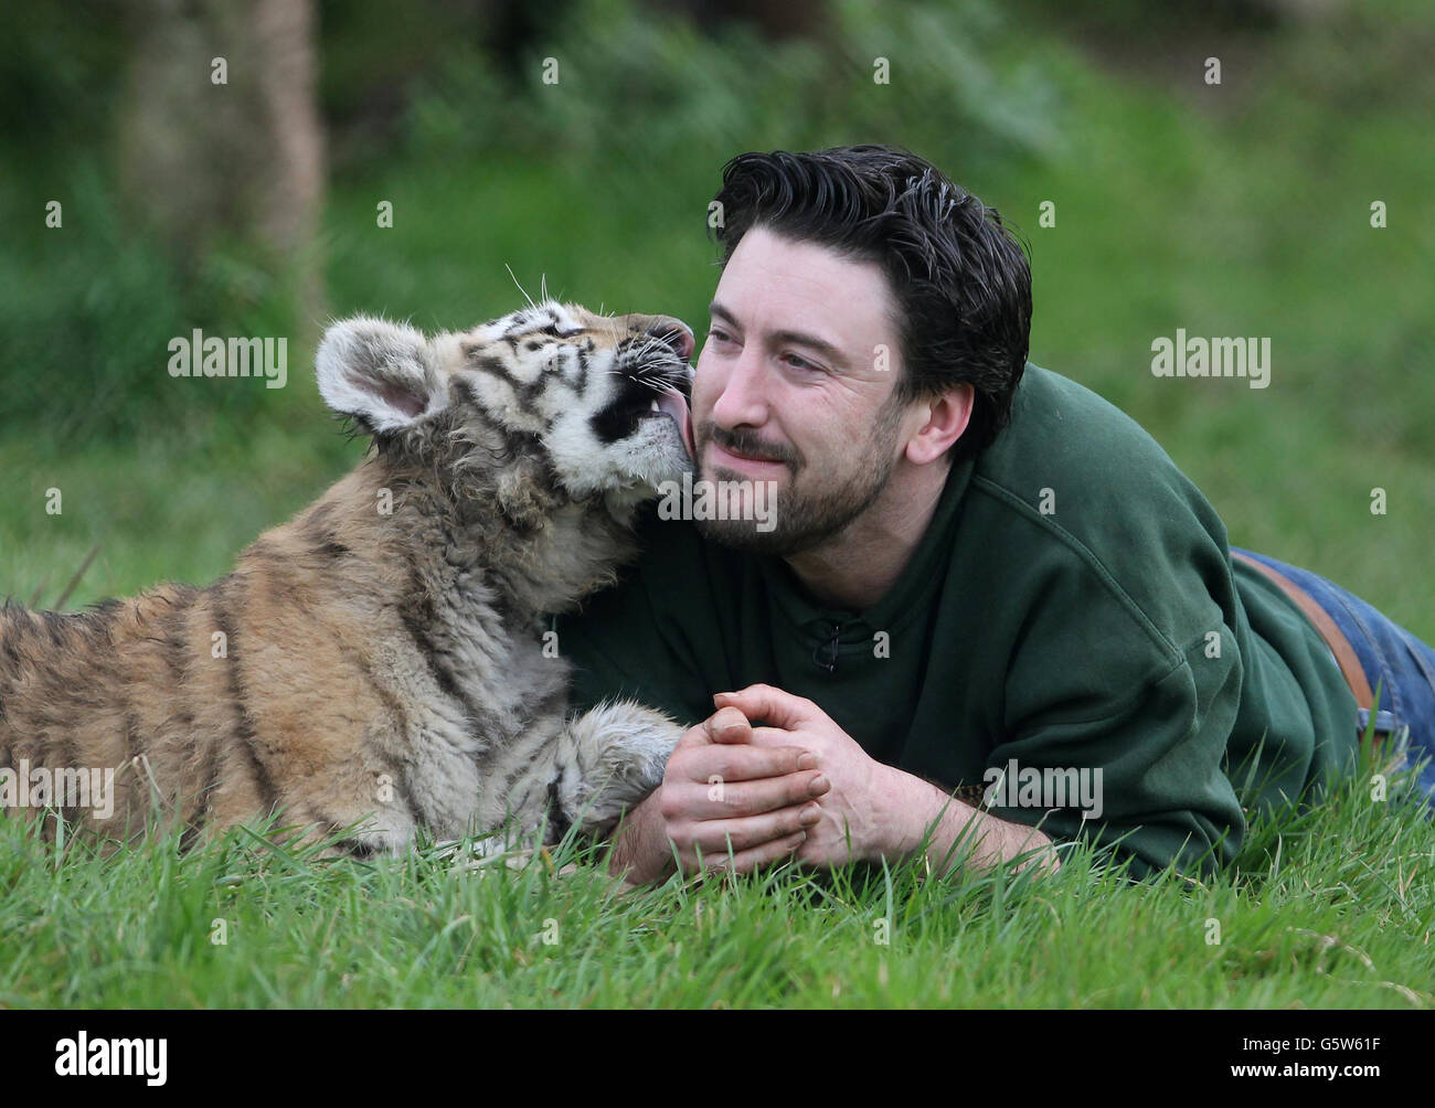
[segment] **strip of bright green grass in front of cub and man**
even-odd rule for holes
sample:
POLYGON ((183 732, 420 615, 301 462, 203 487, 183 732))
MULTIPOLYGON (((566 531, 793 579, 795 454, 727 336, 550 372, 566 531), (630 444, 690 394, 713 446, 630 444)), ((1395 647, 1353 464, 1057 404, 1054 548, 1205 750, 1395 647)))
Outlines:
POLYGON ((1363 782, 1256 825, 1204 884, 1128 884, 1085 847, 1046 877, 779 868, 627 894, 600 863, 329 861, 245 830, 102 860, 0 821, 0 1008, 1435 1006, 1435 827, 1363 782))

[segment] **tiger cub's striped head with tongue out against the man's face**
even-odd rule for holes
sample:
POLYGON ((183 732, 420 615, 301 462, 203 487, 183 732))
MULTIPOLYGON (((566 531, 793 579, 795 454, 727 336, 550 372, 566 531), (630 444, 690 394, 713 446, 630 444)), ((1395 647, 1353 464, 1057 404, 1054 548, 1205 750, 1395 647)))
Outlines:
POLYGON ((317 373, 382 455, 474 476, 517 465, 621 510, 692 469, 692 352, 669 316, 545 301, 432 339, 357 316, 324 334, 317 373))

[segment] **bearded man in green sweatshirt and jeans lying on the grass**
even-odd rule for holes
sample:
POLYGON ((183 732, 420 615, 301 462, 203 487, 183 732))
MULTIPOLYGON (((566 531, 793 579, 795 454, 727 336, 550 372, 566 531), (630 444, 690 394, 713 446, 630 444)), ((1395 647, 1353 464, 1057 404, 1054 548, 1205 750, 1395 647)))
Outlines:
POLYGON ((1382 729, 1429 746, 1435 652, 1233 558, 1141 428, 1026 365, 1030 273, 994 211, 877 146, 742 155, 716 202, 692 429, 718 495, 659 505, 637 570, 557 623, 578 705, 690 725, 614 870, 1055 868, 1086 838, 1137 878, 1210 873, 1238 785, 1273 809, 1350 771, 1366 679, 1382 729))

